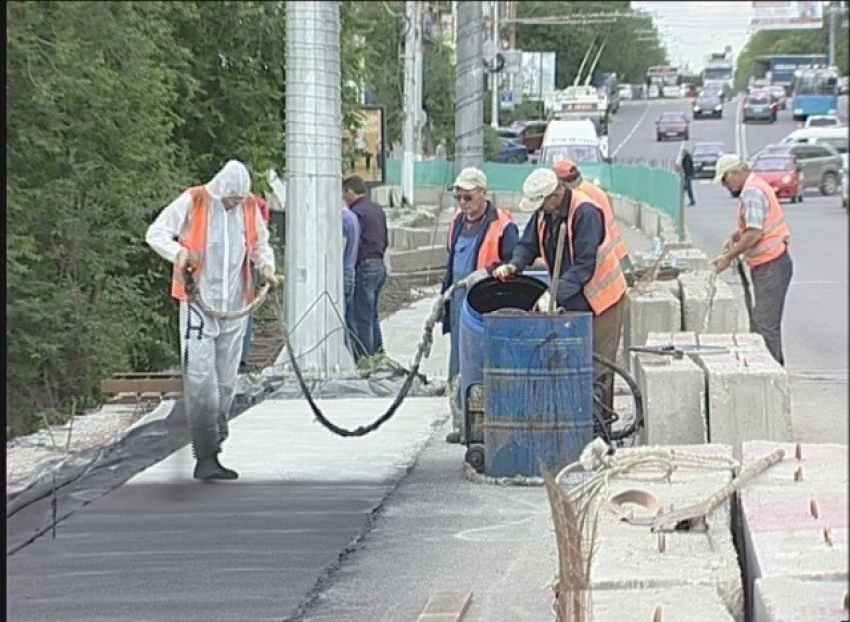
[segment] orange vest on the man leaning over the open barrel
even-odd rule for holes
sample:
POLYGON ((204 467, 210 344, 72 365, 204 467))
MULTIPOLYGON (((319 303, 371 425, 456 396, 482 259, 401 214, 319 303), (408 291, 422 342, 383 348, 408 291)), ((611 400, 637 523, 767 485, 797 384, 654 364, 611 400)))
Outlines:
MULTIPOLYGON (((581 203, 590 203, 601 211, 604 217, 604 210, 602 207, 597 205, 593 199, 586 194, 582 194, 578 190, 573 190, 567 215, 567 226, 570 228, 570 232, 575 230, 575 215, 578 206, 581 203)), ((546 252, 543 246, 545 230, 546 222, 543 220, 542 211, 540 211, 537 216, 537 240, 540 245, 540 257, 543 259, 548 270, 549 262, 546 259, 546 252)), ((568 235, 568 250, 570 253, 570 261, 575 263, 573 237, 572 233, 568 235)), ((559 276, 560 275, 552 275, 552 278, 558 278, 559 276)), ((611 234, 609 229, 606 227, 605 237, 602 240, 602 244, 600 244, 596 249, 596 270, 593 271, 593 276, 590 278, 590 281, 585 283, 582 288, 582 292, 584 293, 584 297, 587 298, 587 302, 593 310, 593 314, 598 317, 617 304, 623 296, 626 295, 627 289, 628 284, 626 283, 626 277, 623 274, 622 267, 620 266, 619 258, 614 254, 614 246, 611 244, 611 234)))

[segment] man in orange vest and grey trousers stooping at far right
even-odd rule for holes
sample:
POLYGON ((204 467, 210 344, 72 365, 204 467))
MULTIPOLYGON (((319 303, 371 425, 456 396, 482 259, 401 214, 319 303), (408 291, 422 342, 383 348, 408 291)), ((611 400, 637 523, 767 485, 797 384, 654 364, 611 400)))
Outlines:
POLYGON ((785 222, 785 212, 770 184, 753 174, 734 153, 720 156, 714 181, 738 199, 738 222, 712 263, 720 273, 738 257, 747 262, 753 283, 755 331, 764 337, 773 358, 785 365, 782 314, 794 272, 788 253, 791 229, 785 222))

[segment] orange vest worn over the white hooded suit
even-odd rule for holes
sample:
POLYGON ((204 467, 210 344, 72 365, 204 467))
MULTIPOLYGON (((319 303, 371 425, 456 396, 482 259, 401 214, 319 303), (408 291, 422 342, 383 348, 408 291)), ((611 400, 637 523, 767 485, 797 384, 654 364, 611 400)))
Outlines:
MULTIPOLYGON (((195 279, 200 277, 201 268, 204 265, 204 253, 207 248, 207 218, 209 209, 209 197, 204 186, 189 188, 192 195, 192 208, 189 213, 189 230, 181 233, 180 244, 189 252, 189 263, 194 271, 195 279)), ((249 194, 242 202, 242 210, 245 216, 245 274, 246 297, 250 304, 254 300, 254 286, 251 279, 251 267, 249 257, 257 246, 257 202, 254 195, 249 194)), ((174 268, 171 280, 171 295, 177 300, 185 301, 186 283, 183 273, 174 268)))

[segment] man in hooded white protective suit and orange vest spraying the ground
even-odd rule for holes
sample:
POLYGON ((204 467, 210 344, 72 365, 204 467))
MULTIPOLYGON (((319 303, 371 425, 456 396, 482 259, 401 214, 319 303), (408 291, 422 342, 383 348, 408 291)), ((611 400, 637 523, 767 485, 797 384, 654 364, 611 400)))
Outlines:
POLYGON ((277 285, 274 253, 251 195, 248 169, 228 161, 208 184, 189 188, 166 207, 145 239, 174 264, 171 295, 180 301, 183 402, 194 477, 236 479, 238 473, 223 467, 218 454, 228 435, 248 316, 217 314, 238 312, 253 300, 252 263, 262 283, 277 285), (194 293, 187 291, 189 279, 194 293))

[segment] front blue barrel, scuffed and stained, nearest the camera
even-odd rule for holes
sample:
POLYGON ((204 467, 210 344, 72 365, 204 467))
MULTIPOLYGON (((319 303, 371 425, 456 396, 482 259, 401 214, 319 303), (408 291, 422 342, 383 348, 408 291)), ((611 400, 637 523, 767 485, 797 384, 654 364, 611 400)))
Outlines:
POLYGON ((484 317, 484 471, 555 473, 593 439, 590 313, 484 317))

